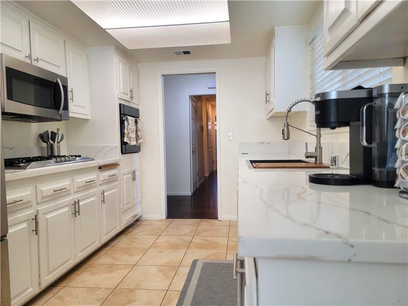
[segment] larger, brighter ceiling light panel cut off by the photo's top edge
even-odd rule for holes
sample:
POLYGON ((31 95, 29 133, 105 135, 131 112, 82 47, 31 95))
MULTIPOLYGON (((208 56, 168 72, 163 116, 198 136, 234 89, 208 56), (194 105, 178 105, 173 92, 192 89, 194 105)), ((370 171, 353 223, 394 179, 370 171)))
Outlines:
POLYGON ((227 0, 72 0, 104 29, 228 21, 227 0))

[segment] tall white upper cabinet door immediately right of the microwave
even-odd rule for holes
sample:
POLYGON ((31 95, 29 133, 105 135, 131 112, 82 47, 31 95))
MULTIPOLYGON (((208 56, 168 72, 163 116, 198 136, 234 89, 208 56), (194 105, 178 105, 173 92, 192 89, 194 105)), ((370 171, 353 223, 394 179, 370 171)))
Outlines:
POLYGON ((65 42, 69 115, 89 118, 88 59, 86 50, 65 42))

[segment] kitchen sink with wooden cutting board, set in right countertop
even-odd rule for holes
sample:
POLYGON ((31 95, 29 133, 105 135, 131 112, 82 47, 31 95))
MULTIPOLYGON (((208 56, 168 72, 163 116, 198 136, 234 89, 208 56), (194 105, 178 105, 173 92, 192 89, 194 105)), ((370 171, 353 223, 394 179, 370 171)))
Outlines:
POLYGON ((316 164, 304 160, 249 160, 250 169, 316 169, 329 166, 316 164))

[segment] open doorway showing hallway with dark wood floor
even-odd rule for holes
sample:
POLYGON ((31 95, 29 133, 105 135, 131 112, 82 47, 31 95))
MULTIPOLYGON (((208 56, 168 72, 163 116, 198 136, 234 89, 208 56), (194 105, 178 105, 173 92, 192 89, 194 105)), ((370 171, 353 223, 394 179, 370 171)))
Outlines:
POLYGON ((215 73, 163 77, 167 218, 218 218, 215 73))

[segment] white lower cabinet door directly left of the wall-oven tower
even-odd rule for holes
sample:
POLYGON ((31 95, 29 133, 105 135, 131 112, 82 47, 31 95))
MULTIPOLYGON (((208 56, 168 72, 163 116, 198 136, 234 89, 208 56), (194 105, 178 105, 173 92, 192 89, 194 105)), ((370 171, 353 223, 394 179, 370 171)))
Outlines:
POLYGON ((119 183, 100 188, 100 242, 104 243, 120 229, 119 183))

